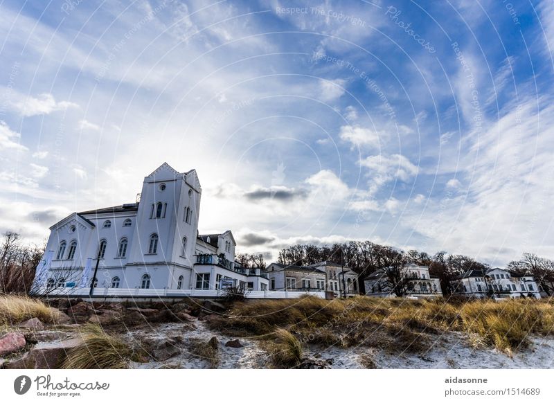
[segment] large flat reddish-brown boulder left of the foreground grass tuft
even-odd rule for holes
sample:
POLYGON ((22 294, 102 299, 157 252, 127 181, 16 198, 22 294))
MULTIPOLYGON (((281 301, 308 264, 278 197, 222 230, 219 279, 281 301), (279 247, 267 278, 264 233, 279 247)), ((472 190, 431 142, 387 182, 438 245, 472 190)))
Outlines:
POLYGON ((62 367, 67 354, 82 343, 82 339, 38 343, 23 357, 4 364, 6 369, 58 369, 62 367))

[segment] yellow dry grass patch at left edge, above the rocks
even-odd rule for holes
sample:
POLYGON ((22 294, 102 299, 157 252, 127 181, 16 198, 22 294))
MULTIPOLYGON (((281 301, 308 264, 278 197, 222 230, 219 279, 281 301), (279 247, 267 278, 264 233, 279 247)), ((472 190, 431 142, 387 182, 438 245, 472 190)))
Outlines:
POLYGON ((52 323, 57 319, 59 311, 53 310, 42 301, 28 296, 0 296, 0 324, 10 325, 38 318, 44 323, 52 323))

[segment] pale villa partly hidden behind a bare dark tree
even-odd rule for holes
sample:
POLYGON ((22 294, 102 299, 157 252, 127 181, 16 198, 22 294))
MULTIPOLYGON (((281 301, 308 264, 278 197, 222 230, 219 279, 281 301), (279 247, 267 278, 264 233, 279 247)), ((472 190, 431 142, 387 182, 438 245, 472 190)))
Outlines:
MULTIPOLYGON (((442 295, 440 281, 429 275, 429 267, 413 263, 402 269, 402 283, 407 296, 428 298, 442 295)), ((394 297, 384 270, 377 270, 364 279, 367 296, 394 297)))

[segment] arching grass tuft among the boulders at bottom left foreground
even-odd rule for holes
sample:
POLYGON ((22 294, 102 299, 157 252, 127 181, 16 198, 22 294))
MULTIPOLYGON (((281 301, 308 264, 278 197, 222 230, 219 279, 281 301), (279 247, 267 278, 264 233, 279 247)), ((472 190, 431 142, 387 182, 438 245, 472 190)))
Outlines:
POLYGON ((123 369, 132 356, 132 350, 118 337, 104 332, 98 325, 80 328, 83 343, 71 350, 64 361, 64 369, 123 369))

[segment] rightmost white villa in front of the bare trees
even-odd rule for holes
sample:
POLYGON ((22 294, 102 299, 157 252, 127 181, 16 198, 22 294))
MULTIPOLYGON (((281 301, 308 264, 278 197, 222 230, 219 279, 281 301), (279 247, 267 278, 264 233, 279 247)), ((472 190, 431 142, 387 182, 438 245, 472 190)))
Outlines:
POLYGON ((514 276, 499 267, 466 271, 456 279, 455 292, 472 298, 541 298, 532 276, 514 276))

